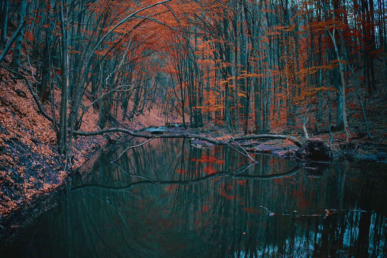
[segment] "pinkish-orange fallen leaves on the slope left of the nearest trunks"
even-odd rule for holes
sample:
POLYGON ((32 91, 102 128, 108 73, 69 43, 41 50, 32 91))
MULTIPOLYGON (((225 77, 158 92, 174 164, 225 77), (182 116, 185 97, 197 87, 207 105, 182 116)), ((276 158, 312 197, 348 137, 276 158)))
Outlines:
MULTIPOLYGON (((5 74, 5 77, 8 75, 5 74)), ((20 81, 0 83, 0 213, 6 216, 38 194, 51 191, 62 175, 55 173, 55 132, 38 114, 20 81), (39 165, 33 163, 39 160, 39 165), (44 163, 44 164, 43 164, 44 163), (50 171, 48 171, 50 170, 50 171), (54 181, 53 181, 54 179, 54 181)), ((50 109, 49 106, 46 108, 50 109)))

